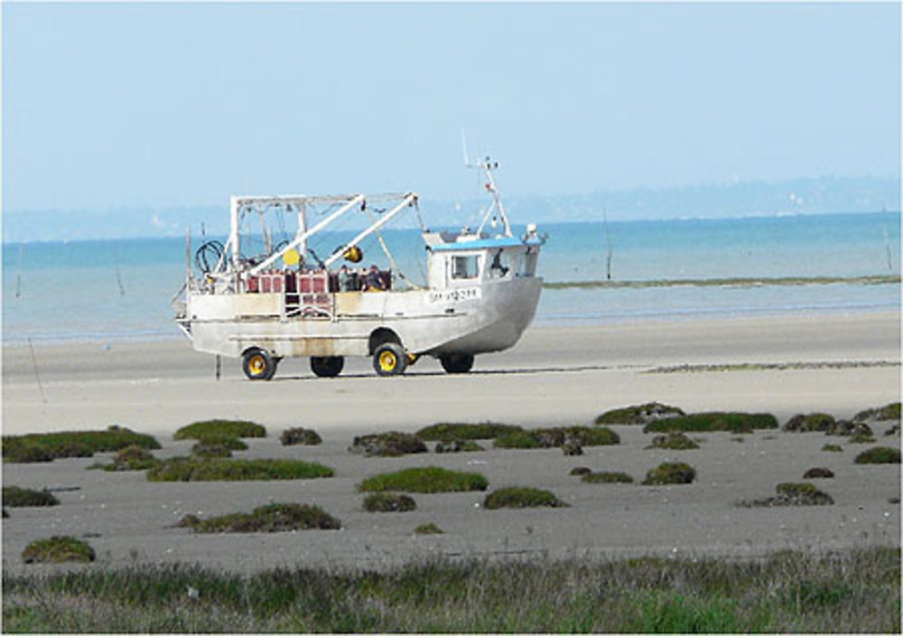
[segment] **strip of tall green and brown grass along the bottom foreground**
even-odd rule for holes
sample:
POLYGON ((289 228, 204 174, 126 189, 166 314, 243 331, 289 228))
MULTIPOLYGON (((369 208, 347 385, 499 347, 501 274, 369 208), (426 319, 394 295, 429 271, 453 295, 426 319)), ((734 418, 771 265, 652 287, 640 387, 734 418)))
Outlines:
POLYGON ((743 563, 433 560, 385 573, 87 566, 4 572, 3 622, 9 632, 899 632, 899 567, 886 547, 743 563))

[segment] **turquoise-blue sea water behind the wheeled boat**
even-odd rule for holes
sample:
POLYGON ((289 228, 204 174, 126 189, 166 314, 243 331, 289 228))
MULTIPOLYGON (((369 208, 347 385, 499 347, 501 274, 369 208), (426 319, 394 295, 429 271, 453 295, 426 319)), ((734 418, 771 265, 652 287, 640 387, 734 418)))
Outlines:
MULTIPOLYGON (((539 275, 547 282, 900 273, 898 212, 558 223, 540 224, 539 230, 548 235, 539 261, 539 275)), ((324 234, 312 247, 327 257, 350 236, 347 231, 324 234)), ((386 229, 382 237, 397 267, 423 284, 419 231, 386 229)), ((191 261, 199 246, 199 239, 192 241, 191 261)), ((376 237, 362 247, 362 265, 388 266, 376 237)), ((170 303, 185 280, 185 239, 7 243, 3 248, 5 343, 180 337, 170 303)), ((543 291, 535 323, 899 307, 898 284, 567 288, 543 291)))

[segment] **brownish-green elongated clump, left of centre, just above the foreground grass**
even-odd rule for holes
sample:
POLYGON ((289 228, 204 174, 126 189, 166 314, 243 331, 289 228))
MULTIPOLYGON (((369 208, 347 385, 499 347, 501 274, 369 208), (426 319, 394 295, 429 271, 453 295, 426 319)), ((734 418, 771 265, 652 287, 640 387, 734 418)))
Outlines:
POLYGON ((292 530, 338 530, 339 519, 318 506, 300 503, 269 503, 250 513, 235 512, 210 519, 198 519, 194 515, 183 518, 179 524, 194 532, 290 532, 292 530))

